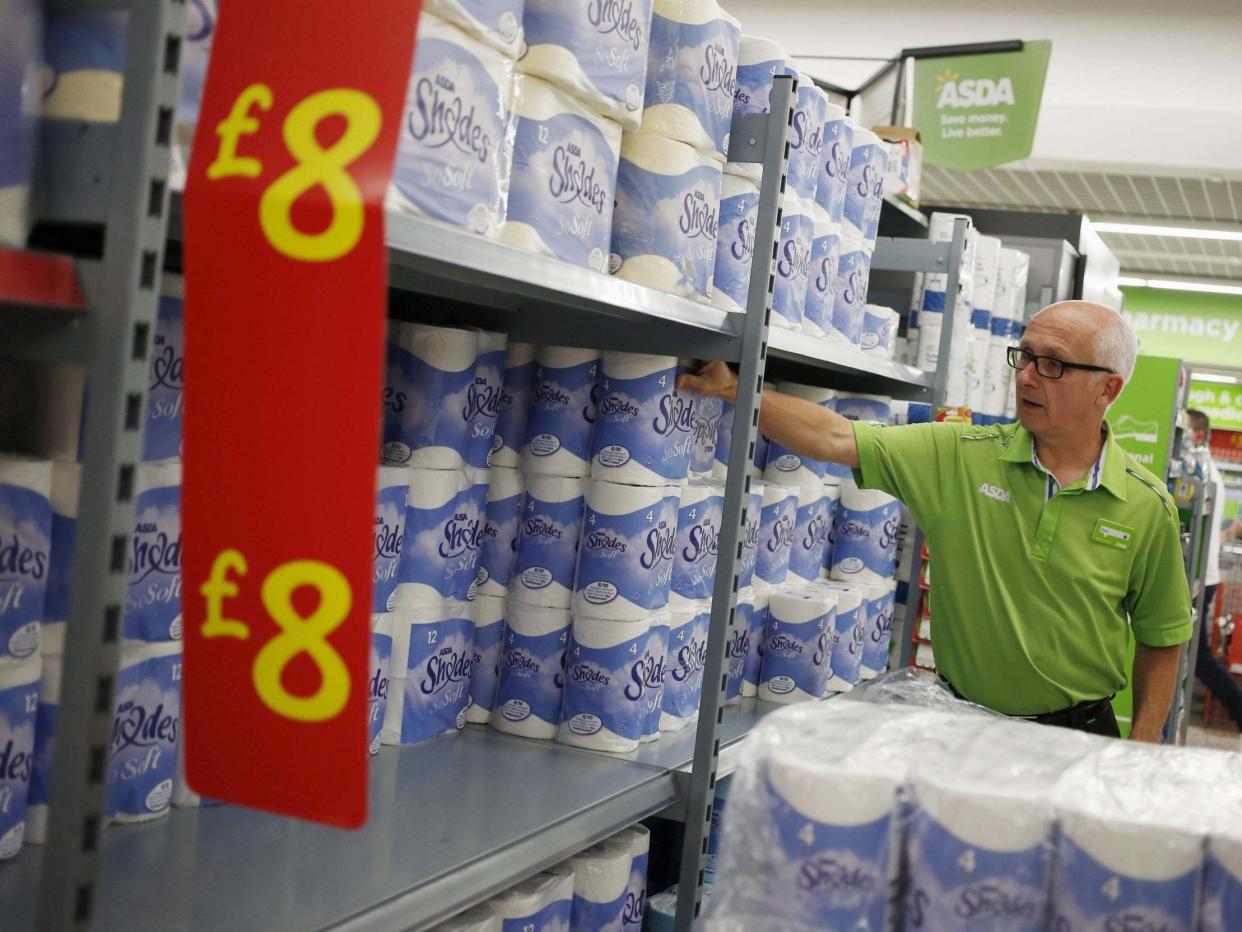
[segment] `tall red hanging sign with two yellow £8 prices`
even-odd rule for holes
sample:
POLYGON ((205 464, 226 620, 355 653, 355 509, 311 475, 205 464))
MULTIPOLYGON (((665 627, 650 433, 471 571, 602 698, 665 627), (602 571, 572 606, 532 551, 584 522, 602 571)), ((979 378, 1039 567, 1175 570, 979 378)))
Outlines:
POLYGON ((383 201, 417 4, 222 0, 185 190, 186 774, 366 818, 383 201))

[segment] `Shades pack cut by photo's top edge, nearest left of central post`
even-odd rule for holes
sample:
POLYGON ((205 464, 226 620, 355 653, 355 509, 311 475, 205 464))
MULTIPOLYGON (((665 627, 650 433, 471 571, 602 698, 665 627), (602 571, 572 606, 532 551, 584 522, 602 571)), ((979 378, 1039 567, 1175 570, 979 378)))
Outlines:
POLYGON ((724 162, 741 25, 715 0, 656 0, 640 132, 724 162))

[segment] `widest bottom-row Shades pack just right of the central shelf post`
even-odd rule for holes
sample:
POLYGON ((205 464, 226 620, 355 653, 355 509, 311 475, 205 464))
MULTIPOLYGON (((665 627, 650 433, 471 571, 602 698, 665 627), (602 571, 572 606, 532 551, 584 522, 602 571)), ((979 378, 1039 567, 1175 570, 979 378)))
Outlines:
POLYGON ((836 593, 822 587, 773 590, 759 698, 789 703, 810 702, 827 695, 836 606, 836 593))

